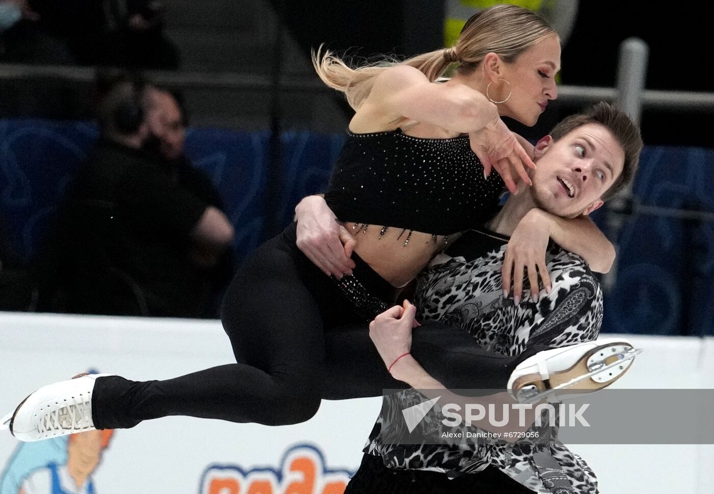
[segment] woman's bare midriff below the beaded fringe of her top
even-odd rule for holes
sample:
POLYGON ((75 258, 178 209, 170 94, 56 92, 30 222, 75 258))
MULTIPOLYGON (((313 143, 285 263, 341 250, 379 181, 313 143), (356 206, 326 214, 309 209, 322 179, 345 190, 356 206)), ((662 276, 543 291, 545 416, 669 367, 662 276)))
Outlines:
MULTIPOLYGON (((381 225, 371 224, 366 231, 361 223, 348 222, 344 226, 357 241, 354 252, 394 287, 413 280, 446 247, 443 235, 434 242, 432 234, 412 231, 410 235, 408 229, 390 227, 380 238, 381 225)), ((449 235, 448 242, 456 237, 449 235)))

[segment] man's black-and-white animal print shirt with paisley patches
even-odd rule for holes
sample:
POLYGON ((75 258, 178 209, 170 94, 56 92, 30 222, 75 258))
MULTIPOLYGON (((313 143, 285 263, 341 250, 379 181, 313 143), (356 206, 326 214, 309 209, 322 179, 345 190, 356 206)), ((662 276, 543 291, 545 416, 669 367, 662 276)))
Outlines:
MULTIPOLYGON (((465 236, 469 234, 486 235, 490 239, 486 242, 495 248, 470 260, 441 255, 436 263, 432 262, 418 278, 415 297, 418 320, 439 320, 451 327, 463 327, 483 349, 502 355, 518 355, 529 342, 562 347, 598 337, 603 297, 585 260, 551 244, 546 261, 553 289, 549 294, 540 290, 537 303, 524 290, 521 304, 515 305, 512 298, 503 298, 501 286, 508 238, 487 229, 467 232, 465 236)), ((413 393, 414 404, 423 401, 421 395, 413 393)), ((403 407, 408 405, 406 402, 403 407)), ((595 474, 580 456, 555 438, 557 429, 550 428, 553 438, 547 444, 395 445, 388 443, 389 431, 382 431, 381 425, 382 417, 378 418, 364 452, 381 456, 389 468, 460 475, 478 472, 491 464, 535 492, 551 493, 543 485, 533 460, 535 453, 549 453, 576 493, 598 492, 595 474)))

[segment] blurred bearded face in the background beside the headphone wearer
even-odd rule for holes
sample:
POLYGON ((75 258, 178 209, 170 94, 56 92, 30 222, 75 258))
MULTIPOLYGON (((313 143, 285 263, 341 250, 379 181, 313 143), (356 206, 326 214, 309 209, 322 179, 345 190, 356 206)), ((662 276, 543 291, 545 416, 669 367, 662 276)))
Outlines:
POLYGON ((177 159, 183 154, 186 127, 183 115, 171 94, 154 89, 151 94, 151 109, 147 118, 151 134, 161 141, 159 150, 166 159, 177 159))

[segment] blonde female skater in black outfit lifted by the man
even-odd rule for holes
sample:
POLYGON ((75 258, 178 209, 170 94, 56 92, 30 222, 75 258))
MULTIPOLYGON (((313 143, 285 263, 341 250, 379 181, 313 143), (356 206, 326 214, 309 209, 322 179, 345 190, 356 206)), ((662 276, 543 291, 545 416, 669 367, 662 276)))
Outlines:
MULTIPOLYGON (((344 68, 330 56, 319 65, 344 68)), ((19 405, 11 433, 40 440, 168 415, 266 425, 311 418, 326 331, 389 307, 450 235, 493 215, 504 183, 515 187, 511 169, 528 182, 534 165, 500 117, 534 124, 556 97, 559 66, 558 36, 545 21, 496 6, 473 16, 453 48, 346 76, 357 112, 327 197, 340 219, 368 230, 352 275, 326 277, 296 247, 293 224, 246 260, 226 294, 223 326, 238 363, 165 381, 88 375, 49 385, 19 405), (456 61, 457 76, 434 84, 456 61)), ((590 224, 569 224, 566 237, 570 244, 558 241, 588 258, 609 245, 590 224)), ((338 397, 353 397, 342 384, 338 397)))

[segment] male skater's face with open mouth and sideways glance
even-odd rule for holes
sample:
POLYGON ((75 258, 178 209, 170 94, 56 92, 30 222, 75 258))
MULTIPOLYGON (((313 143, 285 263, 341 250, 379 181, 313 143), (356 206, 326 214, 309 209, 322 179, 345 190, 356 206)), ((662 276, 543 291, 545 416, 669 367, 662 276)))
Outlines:
POLYGON ((543 137, 535 146, 533 200, 557 216, 589 214, 603 204, 600 197, 620 176, 624 163, 622 147, 599 124, 578 127, 557 142, 543 137))

